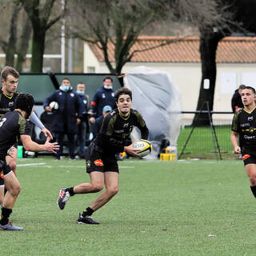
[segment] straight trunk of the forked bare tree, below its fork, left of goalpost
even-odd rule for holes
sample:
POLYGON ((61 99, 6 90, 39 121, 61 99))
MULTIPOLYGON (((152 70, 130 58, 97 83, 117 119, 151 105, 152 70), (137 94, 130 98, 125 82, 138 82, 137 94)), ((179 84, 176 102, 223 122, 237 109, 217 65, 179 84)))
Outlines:
POLYGON ((38 27, 34 28, 33 32, 31 72, 42 73, 46 30, 44 27, 38 27))

